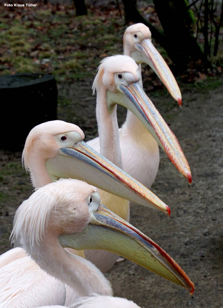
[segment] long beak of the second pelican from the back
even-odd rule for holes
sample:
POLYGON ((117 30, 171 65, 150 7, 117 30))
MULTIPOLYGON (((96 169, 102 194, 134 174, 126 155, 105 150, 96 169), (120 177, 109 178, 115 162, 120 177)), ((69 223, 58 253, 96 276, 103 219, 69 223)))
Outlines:
POLYGON ((114 106, 116 99, 117 103, 132 111, 142 124, 149 130, 159 146, 167 154, 171 162, 176 166, 189 183, 192 182, 192 176, 189 164, 184 152, 182 151, 176 136, 173 134, 167 123, 163 120, 159 111, 143 91, 139 82, 129 83, 128 86, 118 85, 118 92, 124 94, 122 97, 116 93, 110 92, 108 106, 114 106), (124 96, 124 97, 123 97, 124 96))

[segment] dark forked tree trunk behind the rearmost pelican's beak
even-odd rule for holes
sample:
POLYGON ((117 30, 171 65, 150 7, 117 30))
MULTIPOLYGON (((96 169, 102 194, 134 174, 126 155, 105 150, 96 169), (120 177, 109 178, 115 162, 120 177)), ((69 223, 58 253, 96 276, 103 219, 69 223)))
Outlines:
POLYGON ((139 13, 134 0, 122 0, 126 20, 142 22, 150 28, 152 38, 157 41, 168 53, 171 60, 184 69, 192 60, 204 61, 204 54, 191 33, 192 17, 187 9, 185 0, 154 0, 156 12, 163 26, 163 32, 155 29, 139 13))

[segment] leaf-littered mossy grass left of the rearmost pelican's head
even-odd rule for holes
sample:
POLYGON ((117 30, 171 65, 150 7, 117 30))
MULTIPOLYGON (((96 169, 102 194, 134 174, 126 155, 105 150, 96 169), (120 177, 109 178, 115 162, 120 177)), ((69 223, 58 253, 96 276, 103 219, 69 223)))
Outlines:
POLYGON ((104 47, 108 55, 122 52, 124 26, 114 35, 117 22, 123 24, 118 11, 117 18, 105 22, 100 12, 75 17, 73 7, 58 11, 48 7, 17 9, 10 12, 15 15, 10 19, 6 8, 0 7, 0 75, 43 72, 55 75, 57 81, 88 78, 95 73, 104 47), (46 65, 42 59, 51 61, 46 65))

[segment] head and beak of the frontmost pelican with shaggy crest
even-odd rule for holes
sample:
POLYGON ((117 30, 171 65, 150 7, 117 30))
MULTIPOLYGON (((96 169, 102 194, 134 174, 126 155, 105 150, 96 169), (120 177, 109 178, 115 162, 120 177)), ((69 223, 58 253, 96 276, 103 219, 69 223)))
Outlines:
POLYGON ((180 266, 150 238, 100 204, 96 189, 85 182, 60 179, 39 188, 20 207, 12 237, 21 234, 24 249, 46 271, 44 259, 50 264, 57 258, 61 262, 58 253, 52 255, 59 243, 77 250, 103 249, 193 293, 194 286, 180 266))

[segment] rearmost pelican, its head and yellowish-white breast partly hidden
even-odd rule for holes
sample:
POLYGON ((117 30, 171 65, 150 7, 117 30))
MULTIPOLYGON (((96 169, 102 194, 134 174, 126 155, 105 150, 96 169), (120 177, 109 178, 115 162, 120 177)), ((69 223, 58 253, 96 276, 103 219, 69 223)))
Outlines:
MULTIPOLYGON (((149 28, 143 23, 137 23, 127 27, 123 38, 123 47, 124 55, 130 56, 138 64, 140 73, 139 82, 141 86, 141 63, 146 63, 158 75, 171 96, 181 106, 181 93, 176 79, 162 56, 153 46, 149 28)), ((158 142, 158 140, 156 141, 158 142)), ((140 181, 147 188, 150 188, 159 168, 159 148, 149 131, 129 109, 127 109, 126 121, 120 130, 120 147, 122 152, 123 170, 140 181), (134 138, 136 131, 138 135, 143 136, 144 147, 141 140, 134 138), (147 151, 145 151, 145 147, 147 151), (131 155, 133 152, 131 150, 132 148, 134 148, 134 156, 131 155), (151 160, 152 155, 155 155, 154 160, 151 160), (140 157, 141 159, 138 159, 136 162, 135 157, 140 157), (145 169, 148 170, 147 176, 146 173, 143 172, 145 169)), ((170 156, 168 157, 171 159, 170 156)), ((192 176, 188 165, 185 169, 185 173, 181 173, 188 178, 189 183, 192 182, 192 176)))

